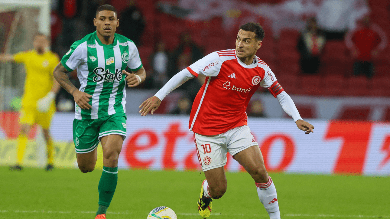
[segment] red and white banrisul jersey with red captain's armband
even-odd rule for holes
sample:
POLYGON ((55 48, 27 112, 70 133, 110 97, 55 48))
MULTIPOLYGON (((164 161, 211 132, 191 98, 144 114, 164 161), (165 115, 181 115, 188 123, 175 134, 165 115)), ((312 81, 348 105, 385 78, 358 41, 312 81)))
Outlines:
POLYGON ((210 53, 188 68, 206 81, 192 105, 189 128, 201 135, 217 135, 247 125, 246 107, 259 86, 267 87, 276 97, 283 88, 268 65, 255 56, 254 63, 244 64, 235 50, 210 53))

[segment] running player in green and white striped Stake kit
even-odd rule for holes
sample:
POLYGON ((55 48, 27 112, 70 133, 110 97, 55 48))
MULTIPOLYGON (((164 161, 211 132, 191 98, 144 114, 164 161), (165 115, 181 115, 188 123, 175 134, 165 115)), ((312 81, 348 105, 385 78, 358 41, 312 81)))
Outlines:
POLYGON ((96 32, 73 43, 54 69, 54 77, 76 102, 73 141, 77 164, 83 173, 94 170, 96 147, 101 142, 103 173, 98 186, 96 219, 105 219, 117 186, 118 158, 126 137, 126 82, 135 87, 145 81, 146 74, 133 41, 115 34, 119 20, 114 7, 100 6, 94 25, 96 32), (66 75, 74 69, 80 90, 66 75))

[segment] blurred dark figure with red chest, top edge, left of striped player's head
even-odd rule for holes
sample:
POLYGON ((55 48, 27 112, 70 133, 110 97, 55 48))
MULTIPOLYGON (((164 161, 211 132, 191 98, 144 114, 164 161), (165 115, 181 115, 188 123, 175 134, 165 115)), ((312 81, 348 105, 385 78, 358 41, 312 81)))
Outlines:
POLYGON ((82 1, 59 0, 58 12, 62 17, 62 43, 65 48, 69 48, 76 39, 76 18, 82 11, 82 1))

